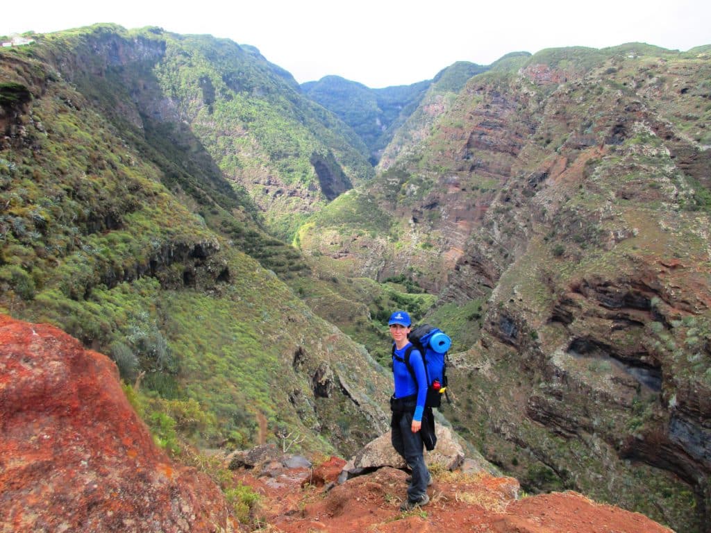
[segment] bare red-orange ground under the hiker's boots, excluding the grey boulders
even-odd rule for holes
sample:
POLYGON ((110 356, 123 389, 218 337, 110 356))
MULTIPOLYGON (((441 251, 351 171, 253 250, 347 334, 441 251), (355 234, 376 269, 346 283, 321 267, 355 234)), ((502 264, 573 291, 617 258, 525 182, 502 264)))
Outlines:
MULTIPOLYGON (((331 463, 332 458, 327 463, 331 463)), ((319 471, 319 466, 314 472, 319 471)), ((496 533, 672 533, 638 513, 600 505, 577 492, 519 498, 513 478, 486 473, 436 472, 422 510, 400 512, 406 474, 385 466, 341 485, 320 483, 302 488, 304 472, 282 471, 277 478, 251 470, 242 483, 262 494, 262 524, 284 533, 369 531, 424 533, 491 531, 496 533)))

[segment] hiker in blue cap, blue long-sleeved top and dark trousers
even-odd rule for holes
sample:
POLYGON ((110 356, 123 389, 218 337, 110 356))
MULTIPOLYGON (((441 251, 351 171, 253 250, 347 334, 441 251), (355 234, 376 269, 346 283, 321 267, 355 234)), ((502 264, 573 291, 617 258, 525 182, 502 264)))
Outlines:
MULTIPOLYGON (((387 325, 390 326, 390 336, 394 344, 392 377, 395 381, 395 393, 390 398, 392 447, 405 459, 412 470, 410 485, 407 488, 407 500, 400 505, 401 511, 410 511, 429 502, 427 485, 432 481, 427 465, 424 463, 422 422, 423 415, 432 416, 432 410, 424 409, 427 379, 422 354, 415 349, 410 352, 410 366, 414 370, 414 377, 402 360, 405 350, 410 345, 410 340, 407 340, 412 325, 410 315, 405 311, 395 311, 387 321, 387 325)), ((430 424, 425 421, 425 432, 429 431, 429 427, 430 424)))

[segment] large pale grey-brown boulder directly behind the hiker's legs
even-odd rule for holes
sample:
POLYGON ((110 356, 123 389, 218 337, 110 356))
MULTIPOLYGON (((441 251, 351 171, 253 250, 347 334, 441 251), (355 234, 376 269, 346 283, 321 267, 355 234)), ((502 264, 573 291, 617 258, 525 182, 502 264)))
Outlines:
MULTIPOLYGON (((456 441, 449 427, 436 424, 434 432, 437 434, 437 446, 433 451, 425 451, 424 461, 428 466, 440 465, 447 470, 455 470, 464 461, 464 448, 456 441)), ((387 431, 356 453, 343 467, 338 483, 383 466, 407 468, 405 460, 397 454, 395 448, 392 448, 391 435, 392 432, 387 431)))

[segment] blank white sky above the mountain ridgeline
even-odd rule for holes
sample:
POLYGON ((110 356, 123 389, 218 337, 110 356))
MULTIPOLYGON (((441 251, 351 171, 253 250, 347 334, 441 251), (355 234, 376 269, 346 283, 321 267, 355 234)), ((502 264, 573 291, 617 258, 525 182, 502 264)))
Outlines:
POLYGON ((0 35, 97 22, 210 33, 256 46, 298 82, 334 74, 368 87, 520 50, 711 44, 708 0, 11 0, 0 9, 0 35))

